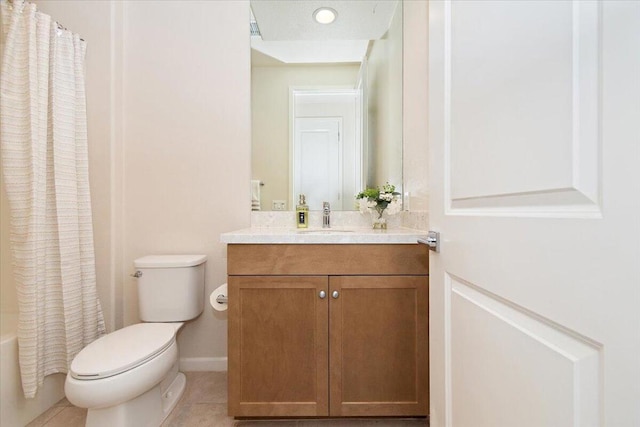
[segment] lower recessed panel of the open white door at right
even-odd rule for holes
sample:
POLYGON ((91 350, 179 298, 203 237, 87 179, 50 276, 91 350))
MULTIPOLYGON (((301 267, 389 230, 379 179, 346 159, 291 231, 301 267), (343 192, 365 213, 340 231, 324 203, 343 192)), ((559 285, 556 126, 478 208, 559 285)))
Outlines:
POLYGON ((444 288, 453 425, 585 426, 597 421, 599 344, 456 277, 447 275, 444 288))

